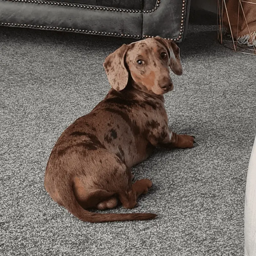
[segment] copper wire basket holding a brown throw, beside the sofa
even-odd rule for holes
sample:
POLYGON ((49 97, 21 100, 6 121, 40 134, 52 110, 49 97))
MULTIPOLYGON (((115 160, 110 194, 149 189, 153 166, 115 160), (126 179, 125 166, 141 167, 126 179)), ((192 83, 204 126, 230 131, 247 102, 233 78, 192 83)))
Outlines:
POLYGON ((242 52, 242 53, 245 53, 245 54, 256 55, 256 47, 254 46, 253 43, 252 43, 251 46, 248 46, 246 44, 240 44, 237 41, 239 22, 241 22, 241 20, 239 19, 239 12, 242 12, 243 13, 243 18, 245 20, 245 23, 246 23, 246 26, 247 26, 247 29, 248 29, 248 34, 250 35, 251 41, 253 42, 252 33, 249 29, 248 22, 246 20, 246 16, 245 16, 245 13, 244 13, 243 5, 242 5, 243 2, 248 3, 248 4, 256 4, 256 3, 252 3, 250 1, 238 0, 237 34, 234 35, 234 33, 231 29, 230 21, 229 21, 226 0, 217 0, 217 39, 218 39, 220 44, 222 44, 223 46, 225 46, 225 47, 227 47, 231 50, 234 50, 235 52, 242 52), (227 18, 228 18, 229 31, 228 31, 228 28, 225 28, 223 26, 224 11, 226 12, 227 18))

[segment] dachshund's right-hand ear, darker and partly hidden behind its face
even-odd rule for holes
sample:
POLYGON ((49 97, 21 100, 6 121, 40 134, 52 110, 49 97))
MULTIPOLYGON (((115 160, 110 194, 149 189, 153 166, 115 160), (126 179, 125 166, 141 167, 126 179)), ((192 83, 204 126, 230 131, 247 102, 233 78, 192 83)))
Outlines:
POLYGON ((170 54, 169 66, 172 69, 172 72, 178 76, 181 76, 183 73, 183 69, 180 61, 180 48, 178 47, 178 45, 160 36, 156 36, 155 39, 167 48, 170 54))

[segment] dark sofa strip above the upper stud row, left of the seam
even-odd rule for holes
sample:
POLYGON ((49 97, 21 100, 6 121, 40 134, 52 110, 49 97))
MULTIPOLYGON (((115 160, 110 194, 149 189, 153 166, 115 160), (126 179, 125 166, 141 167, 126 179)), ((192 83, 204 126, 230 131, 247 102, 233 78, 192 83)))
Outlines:
MULTIPOLYGON (((56 2, 63 2, 55 0, 56 2)), ((96 5, 103 7, 122 8, 141 10, 143 8, 143 0, 66 0, 66 3, 96 5)))

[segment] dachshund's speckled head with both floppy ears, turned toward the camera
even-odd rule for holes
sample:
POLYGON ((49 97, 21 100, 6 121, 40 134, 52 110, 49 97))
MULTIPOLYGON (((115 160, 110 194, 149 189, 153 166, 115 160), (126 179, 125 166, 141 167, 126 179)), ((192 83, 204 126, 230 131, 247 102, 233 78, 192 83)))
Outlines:
POLYGON ((123 44, 108 55, 103 66, 116 91, 125 88, 130 73, 136 88, 161 95, 173 89, 169 67, 182 75, 180 48, 159 36, 123 44))

